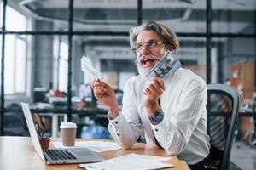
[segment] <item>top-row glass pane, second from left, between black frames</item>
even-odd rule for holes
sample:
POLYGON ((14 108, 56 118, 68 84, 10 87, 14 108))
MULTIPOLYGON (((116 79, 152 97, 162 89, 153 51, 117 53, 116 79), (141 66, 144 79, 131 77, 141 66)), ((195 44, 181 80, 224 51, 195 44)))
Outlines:
POLYGON ((129 31, 137 26, 137 1, 74 1, 74 31, 129 31))

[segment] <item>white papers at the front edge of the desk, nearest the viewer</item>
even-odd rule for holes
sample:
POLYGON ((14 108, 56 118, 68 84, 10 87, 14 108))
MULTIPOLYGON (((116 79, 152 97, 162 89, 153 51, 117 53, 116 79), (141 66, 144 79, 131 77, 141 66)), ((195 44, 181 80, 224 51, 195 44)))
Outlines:
POLYGON ((79 167, 86 169, 96 170, 148 170, 148 169, 160 169, 165 167, 173 167, 172 164, 162 163, 160 161, 167 161, 170 157, 160 156, 145 156, 137 154, 129 154, 126 156, 119 156, 108 161, 79 164, 79 167))

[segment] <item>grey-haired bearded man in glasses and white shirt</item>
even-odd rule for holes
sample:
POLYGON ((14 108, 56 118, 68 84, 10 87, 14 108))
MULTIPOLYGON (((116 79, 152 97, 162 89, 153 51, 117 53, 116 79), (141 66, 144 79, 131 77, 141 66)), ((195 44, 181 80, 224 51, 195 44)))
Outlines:
POLYGON ((130 44, 137 54, 139 75, 125 84, 122 111, 113 88, 98 79, 91 83, 96 99, 108 106, 113 139, 130 149, 144 131, 147 144, 157 144, 189 165, 204 167, 210 148, 205 82, 183 68, 166 79, 145 78, 166 51, 178 48, 176 34, 166 26, 148 21, 131 28, 130 44))

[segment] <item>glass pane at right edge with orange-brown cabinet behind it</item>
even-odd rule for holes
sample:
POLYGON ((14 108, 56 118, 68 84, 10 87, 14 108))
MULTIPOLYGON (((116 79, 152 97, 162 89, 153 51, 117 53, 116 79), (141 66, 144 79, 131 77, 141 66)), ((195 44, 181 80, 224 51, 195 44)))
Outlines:
POLYGON ((218 82, 236 88, 247 108, 253 111, 255 104, 255 39, 221 38, 215 42, 218 48, 218 82))

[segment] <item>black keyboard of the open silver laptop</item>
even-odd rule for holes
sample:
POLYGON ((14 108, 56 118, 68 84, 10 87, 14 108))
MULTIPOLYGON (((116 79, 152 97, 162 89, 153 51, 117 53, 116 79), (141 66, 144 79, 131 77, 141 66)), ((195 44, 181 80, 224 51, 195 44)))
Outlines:
POLYGON ((54 161, 78 159, 67 150, 44 150, 44 152, 54 161))

